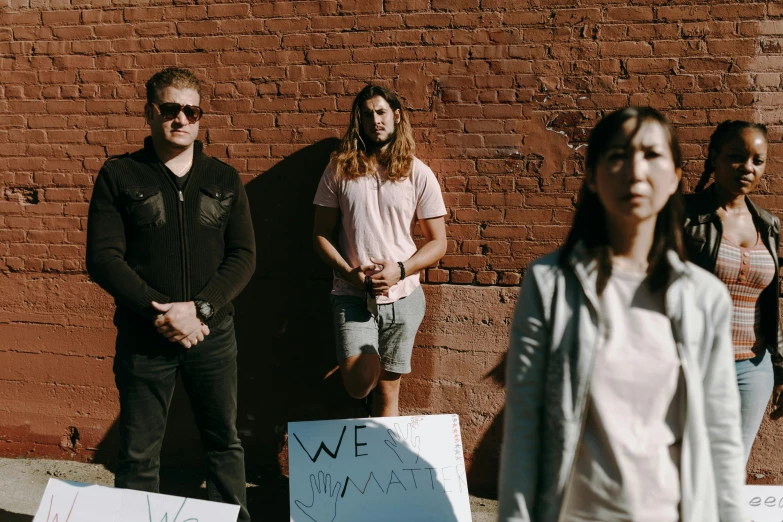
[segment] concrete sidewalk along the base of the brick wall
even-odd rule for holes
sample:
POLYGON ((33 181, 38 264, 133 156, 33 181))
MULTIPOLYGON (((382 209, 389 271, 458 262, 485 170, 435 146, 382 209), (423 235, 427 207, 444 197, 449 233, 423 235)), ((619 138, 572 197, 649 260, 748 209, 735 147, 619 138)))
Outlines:
MULTIPOLYGON (((114 474, 100 464, 65 460, 0 459, 0 522, 31 522, 50 478, 112 486, 114 474)), ((161 492, 203 498, 198 473, 161 471, 161 492)), ((285 477, 250 476, 248 507, 255 521, 288 521, 288 482, 285 477), (259 487, 263 485, 263 487, 259 487), (270 507, 276 508, 270 511, 270 507)), ((470 497, 473 522, 497 520, 497 501, 470 497)), ((437 521, 433 521, 437 522, 437 521)))

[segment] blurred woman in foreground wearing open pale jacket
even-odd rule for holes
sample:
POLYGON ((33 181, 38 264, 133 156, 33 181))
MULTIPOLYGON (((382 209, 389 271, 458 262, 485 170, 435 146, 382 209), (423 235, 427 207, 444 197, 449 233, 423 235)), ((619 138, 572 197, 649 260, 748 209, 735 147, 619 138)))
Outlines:
POLYGON ((651 108, 593 129, 565 245, 511 331, 504 522, 743 522, 731 301, 685 262, 681 157, 651 108))

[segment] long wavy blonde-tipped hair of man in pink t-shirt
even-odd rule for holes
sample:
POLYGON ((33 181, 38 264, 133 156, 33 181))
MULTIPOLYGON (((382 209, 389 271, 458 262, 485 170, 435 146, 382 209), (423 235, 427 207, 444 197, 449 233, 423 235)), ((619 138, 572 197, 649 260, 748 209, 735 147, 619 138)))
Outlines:
POLYGON ((389 179, 398 181, 411 175, 413 154, 416 144, 413 141, 410 119, 405 107, 397 95, 380 85, 368 85, 356 95, 351 108, 351 121, 340 145, 332 153, 336 175, 348 179, 374 176, 380 163, 386 167, 389 179), (380 96, 389 104, 392 111, 400 111, 400 122, 395 125, 389 146, 382 153, 375 153, 368 146, 369 138, 362 130, 361 110, 367 100, 380 96))

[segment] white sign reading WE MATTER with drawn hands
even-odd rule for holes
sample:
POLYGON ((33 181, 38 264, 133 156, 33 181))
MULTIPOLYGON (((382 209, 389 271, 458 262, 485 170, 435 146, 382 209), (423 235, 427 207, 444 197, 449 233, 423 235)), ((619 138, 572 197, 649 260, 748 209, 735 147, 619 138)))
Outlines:
POLYGON ((291 522, 470 522, 457 415, 288 423, 291 522))

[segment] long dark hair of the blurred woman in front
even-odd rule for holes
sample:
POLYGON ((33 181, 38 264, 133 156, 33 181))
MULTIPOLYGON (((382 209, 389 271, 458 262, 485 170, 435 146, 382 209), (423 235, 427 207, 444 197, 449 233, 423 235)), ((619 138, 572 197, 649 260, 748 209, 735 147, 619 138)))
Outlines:
MULTIPOLYGON (((579 200, 574 213, 571 231, 566 238, 560 254, 560 265, 568 265, 568 256, 580 241, 598 261, 598 281, 596 288, 601 295, 606 283, 612 275, 612 248, 607 230, 606 209, 598 195, 588 189, 588 181, 595 176, 599 160, 606 154, 612 138, 621 131, 629 120, 636 120, 634 130, 629 136, 633 139, 639 129, 647 122, 656 122, 664 130, 669 140, 669 148, 676 168, 682 168, 682 154, 677 133, 669 121, 651 107, 627 107, 605 116, 593 128, 587 141, 587 157, 585 158, 585 181, 579 194, 579 200)), ((666 205, 658 213, 655 222, 655 232, 650 253, 649 282, 652 289, 664 288, 669 280, 671 267, 666 259, 666 252, 673 250, 681 259, 686 258, 682 240, 682 195, 680 187, 669 197, 666 205)))

